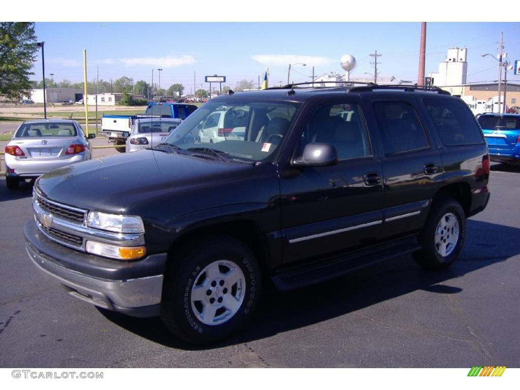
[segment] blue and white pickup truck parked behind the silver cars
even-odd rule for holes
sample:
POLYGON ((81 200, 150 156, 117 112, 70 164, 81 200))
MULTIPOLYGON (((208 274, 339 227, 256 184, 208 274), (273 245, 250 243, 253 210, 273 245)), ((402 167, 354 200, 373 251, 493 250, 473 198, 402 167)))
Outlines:
POLYGON ((109 142, 115 145, 122 145, 122 148, 116 149, 124 152, 126 138, 132 130, 134 120, 151 116, 184 120, 196 109, 197 106, 185 103, 151 102, 148 103, 146 111, 142 115, 103 115, 101 118, 101 132, 108 137, 109 142))

